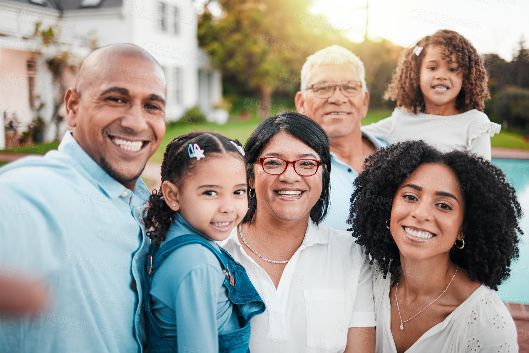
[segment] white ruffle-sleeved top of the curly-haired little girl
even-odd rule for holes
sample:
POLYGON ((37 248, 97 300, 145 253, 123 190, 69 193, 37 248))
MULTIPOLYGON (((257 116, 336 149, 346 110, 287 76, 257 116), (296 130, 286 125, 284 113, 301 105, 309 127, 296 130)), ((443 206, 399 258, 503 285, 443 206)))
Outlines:
POLYGON ((362 131, 389 144, 424 140, 441 152, 466 151, 488 160, 491 158, 490 138, 500 130, 500 124, 490 122, 487 114, 476 109, 456 115, 432 115, 395 108, 386 119, 362 126, 362 131))

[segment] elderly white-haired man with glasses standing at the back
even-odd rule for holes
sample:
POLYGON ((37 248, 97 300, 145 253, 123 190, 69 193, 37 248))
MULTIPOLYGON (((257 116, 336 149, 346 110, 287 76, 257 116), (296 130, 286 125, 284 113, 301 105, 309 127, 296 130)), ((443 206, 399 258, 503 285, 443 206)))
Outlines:
POLYGON ((350 225, 353 181, 362 163, 387 143, 360 130, 366 117, 369 92, 362 61, 349 50, 331 46, 311 55, 301 70, 301 90, 295 104, 299 113, 314 119, 329 135, 331 146, 331 205, 321 223, 337 230, 350 225))

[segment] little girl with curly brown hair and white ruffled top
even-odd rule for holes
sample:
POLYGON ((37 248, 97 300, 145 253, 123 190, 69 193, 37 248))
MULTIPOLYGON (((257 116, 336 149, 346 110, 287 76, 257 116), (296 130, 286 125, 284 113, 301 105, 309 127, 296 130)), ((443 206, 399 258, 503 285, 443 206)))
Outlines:
POLYGON ((490 137, 501 125, 483 113, 488 77, 482 56, 461 34, 427 35, 402 52, 384 96, 396 101, 393 114, 362 130, 389 143, 424 140, 490 160, 490 137))

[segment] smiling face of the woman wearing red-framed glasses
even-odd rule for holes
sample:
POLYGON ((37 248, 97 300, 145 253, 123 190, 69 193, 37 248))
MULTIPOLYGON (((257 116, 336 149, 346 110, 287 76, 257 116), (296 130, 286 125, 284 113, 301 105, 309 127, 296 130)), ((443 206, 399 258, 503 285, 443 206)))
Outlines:
MULTIPOLYGON (((304 158, 321 160, 315 150, 284 131, 268 142, 259 157, 290 161, 304 158)), ((292 221, 308 219, 322 193, 323 166, 312 176, 300 176, 291 164, 279 175, 265 173, 260 163, 254 164, 253 168, 254 179, 250 186, 256 191, 256 215, 271 218, 272 221, 274 218, 292 221)))

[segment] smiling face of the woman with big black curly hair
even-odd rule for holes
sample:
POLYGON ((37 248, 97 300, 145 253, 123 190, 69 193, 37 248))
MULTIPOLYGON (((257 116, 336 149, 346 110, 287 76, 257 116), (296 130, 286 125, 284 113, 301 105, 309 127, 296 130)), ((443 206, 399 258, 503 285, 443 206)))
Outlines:
POLYGON ((399 186, 391 209, 390 231, 401 256, 426 259, 447 253, 461 240, 463 198, 453 171, 423 164, 399 186))

